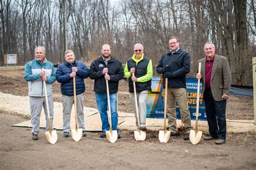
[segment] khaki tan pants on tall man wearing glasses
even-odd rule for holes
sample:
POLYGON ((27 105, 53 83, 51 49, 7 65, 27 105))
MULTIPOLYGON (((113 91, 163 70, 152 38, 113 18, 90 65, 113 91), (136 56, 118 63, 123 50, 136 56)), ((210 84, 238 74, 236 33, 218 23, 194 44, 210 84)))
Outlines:
POLYGON ((167 91, 167 116, 168 116, 168 127, 169 131, 177 133, 176 123, 176 103, 178 102, 180 109, 180 116, 183 124, 187 130, 193 130, 191 126, 190 111, 188 110, 186 89, 185 88, 168 88, 167 91))

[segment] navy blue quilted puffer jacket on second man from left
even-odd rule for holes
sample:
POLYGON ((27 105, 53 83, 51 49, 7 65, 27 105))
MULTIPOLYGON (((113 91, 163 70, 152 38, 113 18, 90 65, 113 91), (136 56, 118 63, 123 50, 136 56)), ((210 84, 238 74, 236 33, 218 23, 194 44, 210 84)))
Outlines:
POLYGON ((89 69, 83 62, 75 60, 72 63, 72 66, 68 62, 63 62, 59 65, 56 76, 57 81, 60 83, 60 91, 62 95, 66 96, 73 96, 73 77, 70 77, 70 73, 72 72, 72 67, 77 67, 77 74, 76 74, 76 95, 84 93, 85 85, 84 79, 89 76, 89 69))

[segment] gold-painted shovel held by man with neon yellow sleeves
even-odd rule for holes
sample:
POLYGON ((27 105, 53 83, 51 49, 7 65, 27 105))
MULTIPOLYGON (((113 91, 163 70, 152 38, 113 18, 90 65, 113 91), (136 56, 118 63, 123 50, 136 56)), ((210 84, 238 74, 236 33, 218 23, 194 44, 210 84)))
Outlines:
MULTIPOLYGON (((132 73, 132 76, 134 76, 134 73, 132 73)), ((146 139, 146 132, 140 130, 140 119, 139 119, 139 110, 138 110, 138 101, 137 101, 137 92, 136 92, 136 84, 133 81, 133 90, 134 90, 134 100, 136 105, 136 115, 137 115, 137 121, 138 121, 138 131, 134 131, 134 137, 136 140, 145 140, 146 139)))

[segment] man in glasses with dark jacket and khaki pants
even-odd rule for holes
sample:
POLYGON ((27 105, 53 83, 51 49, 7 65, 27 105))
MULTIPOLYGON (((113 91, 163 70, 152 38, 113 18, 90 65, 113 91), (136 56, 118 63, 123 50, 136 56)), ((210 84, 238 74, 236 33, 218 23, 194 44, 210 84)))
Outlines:
POLYGON ((179 38, 171 37, 169 40, 170 51, 165 53, 157 66, 157 73, 163 74, 168 79, 167 115, 168 128, 171 136, 177 136, 176 101, 180 109, 181 120, 186 128, 184 140, 190 139, 191 126, 190 111, 186 98, 186 74, 190 72, 190 54, 179 47, 179 38))

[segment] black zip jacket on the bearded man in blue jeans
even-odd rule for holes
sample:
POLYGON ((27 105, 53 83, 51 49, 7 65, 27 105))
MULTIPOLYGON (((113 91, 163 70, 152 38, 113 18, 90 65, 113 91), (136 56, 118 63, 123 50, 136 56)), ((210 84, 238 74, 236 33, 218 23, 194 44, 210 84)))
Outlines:
POLYGON ((124 76, 124 68, 122 65, 122 62, 113 58, 111 56, 111 59, 109 62, 107 62, 107 65, 105 64, 104 60, 102 59, 102 56, 100 56, 98 59, 94 60, 91 64, 89 76, 91 79, 94 79, 94 91, 96 93, 103 93, 106 94, 106 80, 105 75, 102 74, 102 70, 107 67, 109 69, 109 72, 107 74, 110 75, 110 81, 109 81, 109 93, 117 93, 118 91, 118 82, 119 80, 123 79, 124 76))

